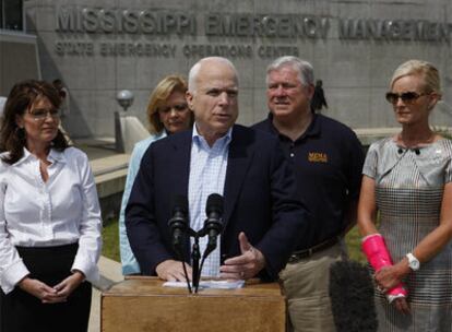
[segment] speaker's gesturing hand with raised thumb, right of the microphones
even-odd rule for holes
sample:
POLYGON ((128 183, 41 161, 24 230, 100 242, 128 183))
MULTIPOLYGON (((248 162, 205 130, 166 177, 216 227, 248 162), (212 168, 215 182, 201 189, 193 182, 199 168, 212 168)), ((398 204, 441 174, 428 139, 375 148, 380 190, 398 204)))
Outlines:
POLYGON ((229 258, 219 266, 219 276, 230 280, 247 280, 255 276, 265 266, 265 258, 248 241, 243 232, 239 234, 241 254, 229 258))

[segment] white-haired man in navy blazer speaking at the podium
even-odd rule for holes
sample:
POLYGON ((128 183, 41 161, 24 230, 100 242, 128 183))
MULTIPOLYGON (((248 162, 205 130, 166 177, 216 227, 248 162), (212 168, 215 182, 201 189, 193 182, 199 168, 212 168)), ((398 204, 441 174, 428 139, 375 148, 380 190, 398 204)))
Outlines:
MULTIPOLYGON (((202 275, 276 280, 306 233, 307 210, 296 197, 295 178, 277 138, 235 124, 238 75, 219 57, 201 59, 190 70, 187 102, 191 130, 150 146, 143 156, 126 210, 130 245, 141 271, 185 281, 168 226, 175 197, 188 198, 189 227, 199 230, 207 197, 224 197, 218 246, 202 275)), ((207 237, 200 239, 201 252, 207 237)), ((190 240, 183 260, 191 275, 190 240)))

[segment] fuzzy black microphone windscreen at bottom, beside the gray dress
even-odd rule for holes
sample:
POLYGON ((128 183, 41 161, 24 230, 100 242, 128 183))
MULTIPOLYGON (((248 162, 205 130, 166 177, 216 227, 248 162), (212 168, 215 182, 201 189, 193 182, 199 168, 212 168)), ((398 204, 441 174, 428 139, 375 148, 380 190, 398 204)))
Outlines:
POLYGON ((367 266, 354 261, 331 264, 330 297, 337 332, 377 331, 373 284, 367 266))

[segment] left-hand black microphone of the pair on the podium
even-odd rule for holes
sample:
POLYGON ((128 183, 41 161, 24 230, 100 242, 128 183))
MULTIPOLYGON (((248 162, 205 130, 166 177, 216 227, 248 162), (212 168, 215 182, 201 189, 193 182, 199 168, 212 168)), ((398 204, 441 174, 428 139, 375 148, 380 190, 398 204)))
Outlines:
POLYGON ((171 215, 173 217, 168 222, 173 235, 171 244, 176 252, 181 256, 185 241, 183 234, 186 233, 188 224, 188 199, 186 195, 176 195, 174 198, 171 215))

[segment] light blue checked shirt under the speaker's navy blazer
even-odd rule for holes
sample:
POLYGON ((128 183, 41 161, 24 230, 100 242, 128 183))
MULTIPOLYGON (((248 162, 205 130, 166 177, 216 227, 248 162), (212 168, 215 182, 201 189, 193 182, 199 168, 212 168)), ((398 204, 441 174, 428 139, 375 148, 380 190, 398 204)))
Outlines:
MULTIPOLYGON (((200 230, 204 226, 207 197, 211 193, 223 195, 231 132, 233 129, 230 128, 211 147, 204 138, 198 133, 197 126, 193 126, 189 177, 189 209, 190 226, 194 230, 200 230)), ((200 238, 201 256, 205 250, 207 240, 207 236, 200 238)), ((193 239, 191 239, 191 246, 193 246, 193 239)), ((201 275, 218 276, 219 248, 221 237, 218 236, 217 247, 205 260, 201 275)))

